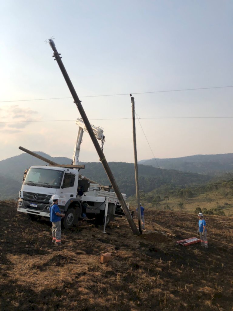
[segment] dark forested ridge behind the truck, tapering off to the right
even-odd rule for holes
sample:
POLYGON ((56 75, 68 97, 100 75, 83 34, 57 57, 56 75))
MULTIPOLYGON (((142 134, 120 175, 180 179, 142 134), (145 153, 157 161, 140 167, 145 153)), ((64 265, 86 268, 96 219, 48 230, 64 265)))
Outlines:
MULTIPOLYGON (((71 159, 64 157, 51 157, 43 152, 36 152, 58 164, 70 164, 71 159)), ((101 184, 108 185, 109 181, 107 175, 100 162, 81 163, 85 164, 85 169, 80 173, 91 178, 101 184)), ((26 153, 19 156, 14 156, 6 160, 0 161, 0 193, 4 198, 15 195, 15 188, 17 193, 21 188, 22 177, 24 170, 32 165, 46 165, 43 161, 30 156, 26 153), (12 188, 12 180, 17 184, 12 188), (4 184, 4 187, 3 187, 4 184)), ((135 173, 134 164, 125 162, 109 162, 112 173, 118 183, 121 192, 126 193, 127 196, 135 193, 135 173)), ((185 188, 194 185, 207 183, 211 177, 208 175, 200 175, 194 173, 184 173, 176 170, 158 169, 152 166, 139 165, 139 188, 144 192, 152 191, 155 188, 185 188)), ((1 197, 1 196, 0 196, 1 197)))

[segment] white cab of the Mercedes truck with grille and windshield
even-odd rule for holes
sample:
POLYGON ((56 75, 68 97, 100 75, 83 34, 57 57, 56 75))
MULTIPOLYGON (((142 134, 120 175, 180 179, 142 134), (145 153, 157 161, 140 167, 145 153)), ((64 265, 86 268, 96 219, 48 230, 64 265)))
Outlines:
POLYGON ((19 193, 18 211, 49 217, 51 197, 59 196, 59 206, 64 210, 66 203, 76 198, 78 171, 50 166, 32 166, 23 179, 19 193))

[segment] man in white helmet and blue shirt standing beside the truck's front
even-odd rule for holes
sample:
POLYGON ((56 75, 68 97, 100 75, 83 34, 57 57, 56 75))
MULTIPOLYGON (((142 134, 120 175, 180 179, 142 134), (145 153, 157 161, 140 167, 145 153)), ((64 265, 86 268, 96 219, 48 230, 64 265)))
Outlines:
POLYGON ((62 229, 61 229, 61 217, 65 217, 64 214, 61 214, 60 208, 58 207, 58 195, 54 194, 51 199, 53 204, 49 207, 50 212, 50 221, 53 224, 53 243, 56 246, 61 245, 62 241, 62 229))

